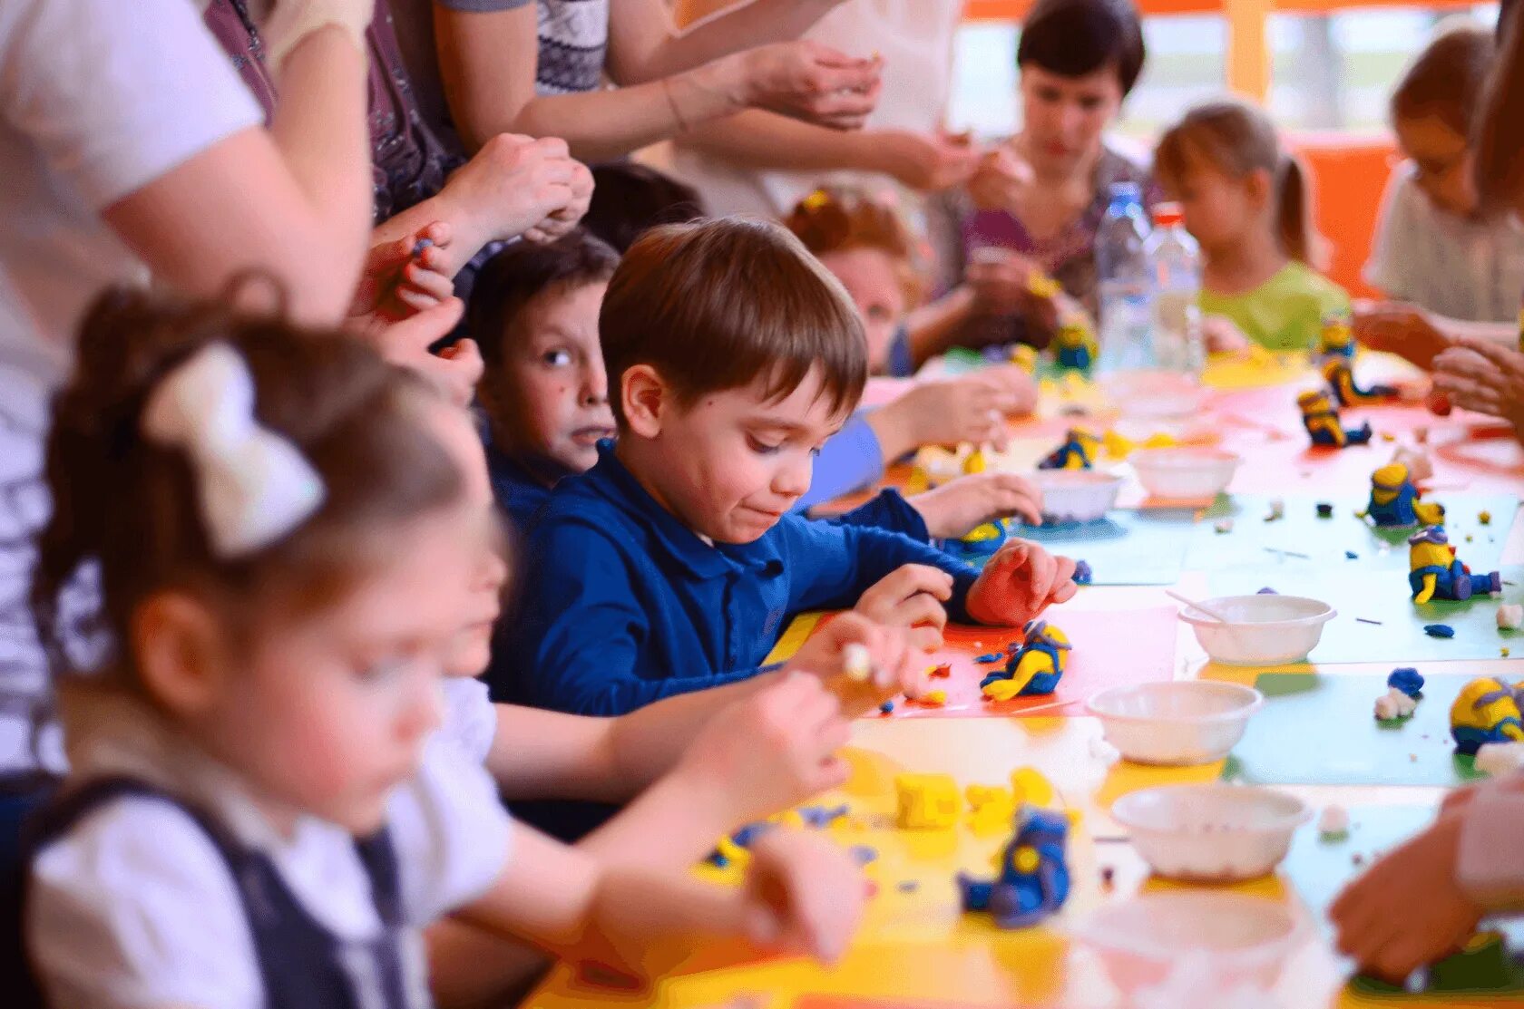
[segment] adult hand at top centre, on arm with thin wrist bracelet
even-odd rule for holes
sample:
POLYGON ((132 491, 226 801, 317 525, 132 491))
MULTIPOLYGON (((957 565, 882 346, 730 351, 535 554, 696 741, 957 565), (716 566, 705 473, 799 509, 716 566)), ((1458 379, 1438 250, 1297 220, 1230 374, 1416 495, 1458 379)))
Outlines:
POLYGON ((765 108, 832 130, 860 130, 878 105, 882 61, 799 40, 736 53, 741 107, 765 108))

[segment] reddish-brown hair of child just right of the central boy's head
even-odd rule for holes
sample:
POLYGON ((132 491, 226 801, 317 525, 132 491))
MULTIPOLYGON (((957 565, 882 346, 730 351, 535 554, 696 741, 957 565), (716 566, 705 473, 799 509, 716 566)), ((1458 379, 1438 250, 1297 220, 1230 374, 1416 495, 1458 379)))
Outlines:
POLYGON ((905 303, 920 303, 925 280, 914 235, 890 203, 875 200, 867 189, 821 186, 794 204, 783 224, 817 256, 852 248, 884 253, 895 262, 905 303))

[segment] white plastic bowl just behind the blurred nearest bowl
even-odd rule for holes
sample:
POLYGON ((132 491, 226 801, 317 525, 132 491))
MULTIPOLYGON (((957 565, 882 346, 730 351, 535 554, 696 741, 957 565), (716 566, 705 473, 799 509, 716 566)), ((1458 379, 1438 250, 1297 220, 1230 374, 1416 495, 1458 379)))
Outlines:
POLYGON ((1193 882, 1269 875, 1291 835, 1312 817, 1308 803, 1271 788, 1164 785, 1117 799, 1111 817, 1155 873, 1193 882))

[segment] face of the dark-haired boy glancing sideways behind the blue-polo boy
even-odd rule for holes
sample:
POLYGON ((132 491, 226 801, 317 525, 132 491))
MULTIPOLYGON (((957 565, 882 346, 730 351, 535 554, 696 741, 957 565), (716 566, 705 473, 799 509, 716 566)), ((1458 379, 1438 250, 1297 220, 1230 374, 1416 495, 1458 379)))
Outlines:
POLYGON ((572 472, 597 462, 597 442, 614 436, 597 309, 607 282, 553 287, 532 297, 503 366, 482 381, 482 402, 503 451, 549 459, 572 472))

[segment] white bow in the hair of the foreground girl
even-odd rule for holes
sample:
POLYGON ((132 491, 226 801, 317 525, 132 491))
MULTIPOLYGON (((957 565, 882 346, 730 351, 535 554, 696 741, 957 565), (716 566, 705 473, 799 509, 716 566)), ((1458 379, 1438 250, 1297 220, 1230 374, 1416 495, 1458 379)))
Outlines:
POLYGON ((212 550, 245 556, 323 504, 323 479, 296 445, 255 419, 255 378, 226 343, 198 351, 158 383, 143 436, 190 456, 212 550))

